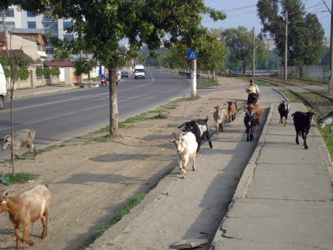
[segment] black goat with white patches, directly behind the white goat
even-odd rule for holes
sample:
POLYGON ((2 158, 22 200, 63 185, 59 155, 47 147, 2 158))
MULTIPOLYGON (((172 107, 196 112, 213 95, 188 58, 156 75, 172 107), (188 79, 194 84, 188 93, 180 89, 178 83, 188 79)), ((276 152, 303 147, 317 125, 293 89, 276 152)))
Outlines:
POLYGON ((192 132, 196 136, 196 142, 198 142, 198 149, 200 149, 201 141, 207 138, 210 148, 212 149, 213 145, 210 141, 210 132, 208 131, 207 126, 208 117, 206 119, 196 119, 190 122, 184 122, 182 125, 178 126, 178 128, 182 128, 183 132, 192 132))

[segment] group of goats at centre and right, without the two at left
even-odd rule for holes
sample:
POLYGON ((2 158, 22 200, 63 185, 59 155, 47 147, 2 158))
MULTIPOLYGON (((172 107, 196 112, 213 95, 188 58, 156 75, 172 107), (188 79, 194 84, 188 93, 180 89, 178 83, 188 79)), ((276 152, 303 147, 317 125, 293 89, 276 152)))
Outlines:
MULTIPOLYGON (((223 132, 223 126, 225 121, 228 119, 229 122, 234 121, 237 113, 237 101, 226 101, 225 106, 216 106, 214 112, 214 121, 216 122, 216 134, 219 135, 219 132, 223 132)), ((278 111, 280 113, 280 122, 283 126, 287 125, 288 115, 291 112, 291 105, 282 100, 278 106, 278 111)), ((247 138, 246 141, 253 140, 253 129, 255 126, 259 125, 259 119, 262 115, 263 110, 257 103, 248 103, 245 117, 244 125, 246 126, 247 138)), ((293 117, 293 123, 296 130, 296 144, 300 144, 298 140, 298 135, 302 136, 303 145, 305 149, 307 147, 307 134, 309 133, 310 124, 312 116, 316 113, 312 112, 301 112, 296 111, 291 116, 293 117)), ((196 153, 200 149, 202 141, 207 138, 210 148, 212 149, 212 142, 210 140, 210 133, 208 131, 206 119, 196 119, 190 122, 184 122, 178 128, 182 129, 182 133, 176 136, 176 133, 173 133, 174 139, 171 140, 176 146, 177 156, 178 156, 178 166, 180 168, 181 174, 180 178, 185 178, 186 166, 189 163, 189 160, 192 160, 192 170, 196 171, 196 153)), ((323 128, 325 125, 330 125, 330 133, 333 128, 333 110, 330 111, 325 117, 318 117, 317 119, 318 126, 323 128)))

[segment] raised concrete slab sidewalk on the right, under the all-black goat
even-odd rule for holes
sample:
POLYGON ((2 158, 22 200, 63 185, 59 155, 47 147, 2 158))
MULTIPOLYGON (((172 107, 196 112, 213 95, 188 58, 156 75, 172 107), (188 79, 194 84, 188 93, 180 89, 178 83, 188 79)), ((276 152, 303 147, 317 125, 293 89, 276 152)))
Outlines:
MULTIPOLYGON (((293 112, 306 111, 293 103, 293 112)), ((271 104, 264 131, 212 249, 333 249, 332 161, 314 124, 296 147, 271 104)), ((292 112, 292 113, 293 113, 292 112)))

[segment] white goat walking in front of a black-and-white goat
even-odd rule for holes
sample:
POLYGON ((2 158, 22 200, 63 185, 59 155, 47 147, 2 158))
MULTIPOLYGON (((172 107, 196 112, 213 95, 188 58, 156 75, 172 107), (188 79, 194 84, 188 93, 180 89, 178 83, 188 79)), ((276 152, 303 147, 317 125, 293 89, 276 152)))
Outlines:
POLYGON ((171 140, 176 146, 177 156, 178 156, 178 166, 180 171, 180 178, 185 178, 186 166, 189 163, 189 159, 192 160, 192 170, 196 171, 196 149, 198 148, 198 142, 196 142, 196 136, 191 132, 180 133, 177 139, 176 134, 173 133, 175 137, 171 140))

